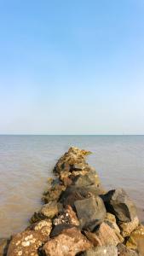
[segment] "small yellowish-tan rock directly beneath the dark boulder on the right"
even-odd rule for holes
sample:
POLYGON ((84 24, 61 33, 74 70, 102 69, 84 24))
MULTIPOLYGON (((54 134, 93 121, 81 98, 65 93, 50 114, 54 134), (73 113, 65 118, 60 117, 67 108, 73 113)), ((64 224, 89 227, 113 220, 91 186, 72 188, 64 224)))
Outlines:
POLYGON ((130 222, 123 222, 119 224, 122 236, 130 236, 130 233, 138 227, 139 219, 137 217, 130 222))

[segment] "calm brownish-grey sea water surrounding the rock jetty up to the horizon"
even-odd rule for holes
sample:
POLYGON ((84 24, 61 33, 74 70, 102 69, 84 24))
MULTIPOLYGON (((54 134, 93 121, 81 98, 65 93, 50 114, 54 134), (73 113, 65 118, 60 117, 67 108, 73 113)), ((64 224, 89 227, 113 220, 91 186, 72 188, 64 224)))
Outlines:
POLYGON ((0 237, 23 230, 47 178, 71 146, 89 149, 107 189, 123 187, 144 221, 144 136, 0 136, 0 237))

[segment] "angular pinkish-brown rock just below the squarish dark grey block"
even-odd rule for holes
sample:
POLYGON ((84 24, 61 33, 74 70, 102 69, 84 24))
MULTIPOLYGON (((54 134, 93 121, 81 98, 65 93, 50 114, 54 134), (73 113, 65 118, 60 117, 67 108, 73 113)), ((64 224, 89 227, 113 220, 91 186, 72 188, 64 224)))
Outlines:
POLYGON ((102 223, 93 233, 85 231, 85 235, 95 247, 108 245, 117 246, 118 243, 124 241, 124 238, 106 223, 102 223))

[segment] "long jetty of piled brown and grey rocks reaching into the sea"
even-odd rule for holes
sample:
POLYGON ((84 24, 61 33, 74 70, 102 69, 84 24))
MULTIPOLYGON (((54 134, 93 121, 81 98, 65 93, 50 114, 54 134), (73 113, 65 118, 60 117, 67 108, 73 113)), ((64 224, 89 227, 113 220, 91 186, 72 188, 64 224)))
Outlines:
POLYGON ((0 255, 144 255, 144 226, 124 189, 105 191, 85 158, 70 148, 43 193, 43 207, 26 230, 0 241, 0 255))

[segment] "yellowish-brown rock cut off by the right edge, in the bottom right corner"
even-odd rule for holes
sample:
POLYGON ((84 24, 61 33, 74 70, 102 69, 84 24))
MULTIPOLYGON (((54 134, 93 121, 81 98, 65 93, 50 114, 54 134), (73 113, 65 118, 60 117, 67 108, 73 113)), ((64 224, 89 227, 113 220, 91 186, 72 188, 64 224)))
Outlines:
POLYGON ((140 225, 130 234, 130 238, 126 242, 126 247, 138 250, 141 256, 144 255, 144 226, 140 225))

